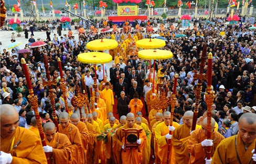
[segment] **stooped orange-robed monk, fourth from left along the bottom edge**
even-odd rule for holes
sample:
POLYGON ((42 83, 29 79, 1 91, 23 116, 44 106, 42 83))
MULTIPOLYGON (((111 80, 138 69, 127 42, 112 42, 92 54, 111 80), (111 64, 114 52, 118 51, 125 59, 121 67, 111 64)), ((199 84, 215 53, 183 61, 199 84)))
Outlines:
POLYGON ((74 126, 77 126, 77 128, 81 134, 83 149, 84 149, 84 156, 85 156, 84 161, 85 161, 85 163, 88 163, 87 158, 86 158, 87 152, 88 152, 87 150, 88 150, 88 144, 89 144, 89 137, 90 137, 88 128, 85 123, 80 121, 80 118, 77 113, 73 113, 70 116, 70 121, 71 121, 71 124, 73 124, 74 126))

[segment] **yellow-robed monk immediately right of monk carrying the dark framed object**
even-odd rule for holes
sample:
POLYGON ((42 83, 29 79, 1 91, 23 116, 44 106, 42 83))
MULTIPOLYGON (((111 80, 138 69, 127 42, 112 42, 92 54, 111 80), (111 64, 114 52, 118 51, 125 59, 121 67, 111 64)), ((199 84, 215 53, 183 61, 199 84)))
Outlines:
POLYGON ((141 117, 137 117, 136 118, 136 124, 140 125, 143 130, 146 133, 147 139, 146 139, 146 143, 145 146, 143 148, 143 158, 142 158, 142 164, 147 164, 148 162, 150 162, 150 145, 151 145, 151 131, 150 128, 148 128, 148 126, 142 122, 142 118, 141 117))

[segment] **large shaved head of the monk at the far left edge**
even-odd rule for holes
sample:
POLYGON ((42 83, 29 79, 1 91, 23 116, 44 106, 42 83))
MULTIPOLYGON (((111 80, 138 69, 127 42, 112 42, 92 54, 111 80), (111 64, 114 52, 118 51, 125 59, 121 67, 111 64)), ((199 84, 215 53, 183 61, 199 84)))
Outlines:
POLYGON ((3 138, 13 135, 19 125, 19 114, 10 104, 0 106, 1 136, 3 138))

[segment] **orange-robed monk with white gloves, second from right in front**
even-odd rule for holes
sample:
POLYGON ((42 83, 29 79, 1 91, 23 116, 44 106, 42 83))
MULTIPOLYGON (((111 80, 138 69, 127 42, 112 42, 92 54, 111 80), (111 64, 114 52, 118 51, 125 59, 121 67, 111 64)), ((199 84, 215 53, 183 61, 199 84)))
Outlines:
POLYGON ((190 153, 190 163, 205 163, 206 147, 211 147, 211 156, 214 155, 215 149, 225 139, 219 132, 214 130, 215 120, 211 118, 211 139, 207 139, 207 118, 201 123, 201 128, 196 129, 191 133, 188 139, 188 151, 190 153))

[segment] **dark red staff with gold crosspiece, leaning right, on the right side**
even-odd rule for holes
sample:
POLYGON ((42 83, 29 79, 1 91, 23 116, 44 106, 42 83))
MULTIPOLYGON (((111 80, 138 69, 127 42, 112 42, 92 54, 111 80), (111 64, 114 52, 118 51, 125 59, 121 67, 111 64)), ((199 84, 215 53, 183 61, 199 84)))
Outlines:
POLYGON ((201 98, 201 92, 202 92, 202 82, 203 82, 203 80, 206 80, 206 78, 207 78, 207 76, 204 74, 206 51, 207 51, 207 44, 205 44, 204 49, 202 50, 200 72, 199 72, 199 74, 196 73, 194 75, 194 79, 198 79, 198 83, 197 83, 197 87, 196 87, 196 105, 195 105, 195 109, 194 109, 193 123, 192 123, 191 131, 194 131, 196 129, 199 100, 201 98))

